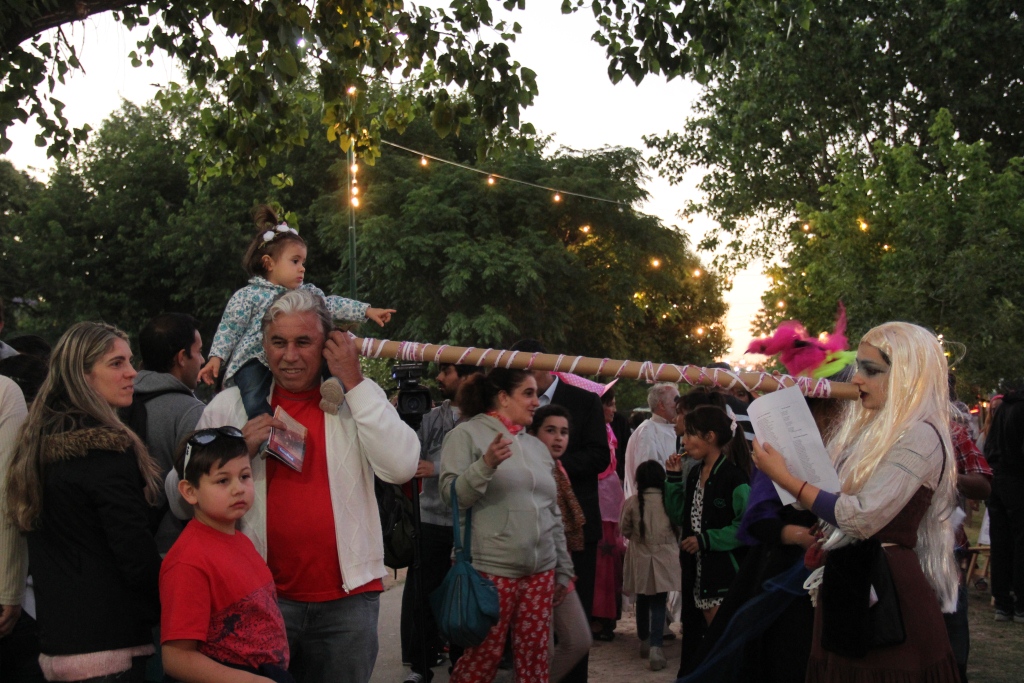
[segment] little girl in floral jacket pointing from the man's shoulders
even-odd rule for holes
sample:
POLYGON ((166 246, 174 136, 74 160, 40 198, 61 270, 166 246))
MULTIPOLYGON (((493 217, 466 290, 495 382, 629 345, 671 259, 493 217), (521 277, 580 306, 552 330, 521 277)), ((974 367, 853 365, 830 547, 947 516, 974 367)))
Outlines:
MULTIPOLYGON (((270 413, 270 403, 266 400, 270 371, 263 355, 262 319, 279 294, 300 288, 309 290, 327 301, 328 310, 338 321, 361 323, 371 319, 383 327, 394 312, 393 308, 374 308, 352 299, 325 296, 315 285, 303 283, 305 240, 295 228, 279 220, 273 209, 266 205, 257 207, 254 218, 257 233, 242 259, 242 266, 250 275, 249 284, 227 302, 210 347, 210 360, 199 374, 200 380, 213 384, 226 361, 224 383, 232 382, 239 387, 250 419, 270 413)), ((333 394, 325 391, 325 398, 334 403, 340 402, 343 395, 340 384, 333 394)))

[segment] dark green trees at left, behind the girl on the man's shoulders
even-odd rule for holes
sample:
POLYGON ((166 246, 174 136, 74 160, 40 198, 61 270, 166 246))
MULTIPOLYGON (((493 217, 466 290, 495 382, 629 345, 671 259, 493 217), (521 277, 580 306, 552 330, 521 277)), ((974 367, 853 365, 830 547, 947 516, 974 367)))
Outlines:
MULTIPOLYGON (((125 103, 76 160, 59 163, 46 186, 8 214, 0 271, 18 330, 55 340, 75 322, 103 319, 134 334, 160 312, 182 311, 209 339, 225 297, 245 282, 253 206, 311 202, 318 191, 311 181, 323 182, 334 155, 323 144, 321 156, 306 147, 274 160, 297 186, 221 179, 200 188, 184 162, 194 135, 185 112, 169 117, 155 104, 125 103)), ((303 231, 312 250, 314 227, 303 231)), ((310 279, 333 267, 337 259, 325 254, 310 264, 310 279)))

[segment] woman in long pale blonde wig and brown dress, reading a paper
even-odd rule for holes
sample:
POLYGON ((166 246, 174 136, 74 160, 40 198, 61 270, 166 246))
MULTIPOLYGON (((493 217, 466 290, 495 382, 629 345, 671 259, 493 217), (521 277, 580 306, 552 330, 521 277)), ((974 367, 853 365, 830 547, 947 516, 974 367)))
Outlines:
POLYGON ((957 590, 946 375, 942 347, 923 328, 887 323, 864 335, 852 380, 860 400, 828 442, 839 492, 793 476, 771 444, 755 442, 758 468, 835 529, 808 681, 958 680, 941 614, 955 609, 957 590), (885 569, 896 600, 876 608, 885 569), (894 624, 902 635, 887 631, 894 624))

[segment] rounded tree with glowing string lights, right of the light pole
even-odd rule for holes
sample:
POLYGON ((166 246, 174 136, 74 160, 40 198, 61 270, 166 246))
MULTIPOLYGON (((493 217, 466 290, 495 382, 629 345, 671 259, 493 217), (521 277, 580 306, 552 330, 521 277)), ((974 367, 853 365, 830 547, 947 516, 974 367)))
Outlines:
MULTIPOLYGON (((472 137, 432 143, 415 126, 401 142, 470 164, 472 137)), ((422 167, 404 154, 360 171, 359 213, 368 216, 357 228, 359 281, 409 311, 388 336, 493 346, 534 337, 566 352, 659 360, 723 352, 721 283, 701 272, 682 233, 633 209, 646 198, 639 153, 534 146, 485 168, 620 204, 568 195, 555 202, 537 187, 492 185, 486 175, 422 167)), ((344 201, 332 197, 329 206, 344 201)), ((341 226, 334 234, 343 238, 341 226)))

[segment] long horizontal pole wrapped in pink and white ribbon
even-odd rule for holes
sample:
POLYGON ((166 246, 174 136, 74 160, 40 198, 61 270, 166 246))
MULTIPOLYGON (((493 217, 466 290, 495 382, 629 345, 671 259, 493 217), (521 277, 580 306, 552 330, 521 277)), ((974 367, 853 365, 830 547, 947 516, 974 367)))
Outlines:
POLYGON ((691 386, 717 386, 726 389, 742 386, 751 393, 764 393, 799 386, 805 396, 813 398, 856 399, 860 391, 853 384, 829 382, 810 377, 773 376, 768 373, 734 373, 719 368, 677 366, 670 362, 644 360, 613 360, 591 358, 583 355, 557 353, 527 353, 472 346, 422 344, 420 342, 390 341, 387 339, 355 338, 360 352, 368 358, 395 358, 410 362, 451 362, 479 366, 481 368, 507 368, 516 370, 550 370, 574 375, 599 377, 625 377, 654 382, 686 383, 691 386))

